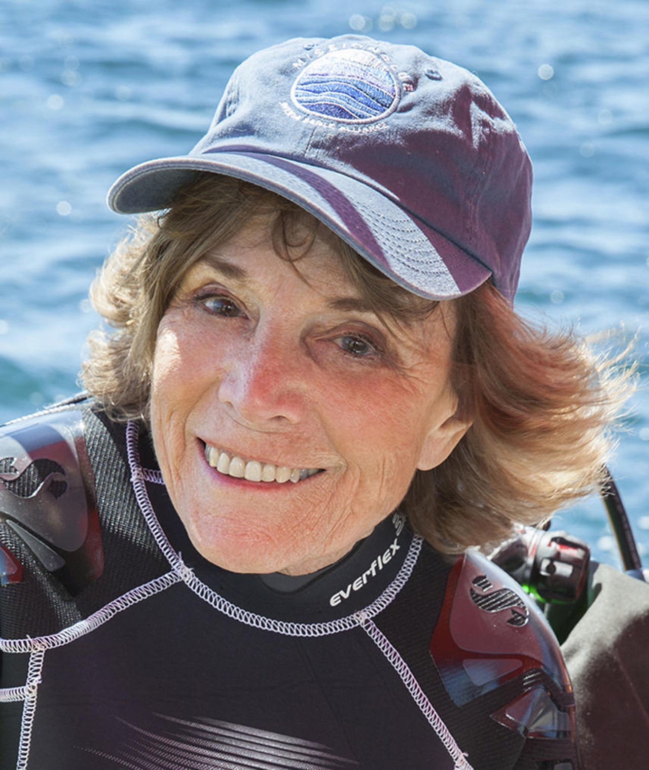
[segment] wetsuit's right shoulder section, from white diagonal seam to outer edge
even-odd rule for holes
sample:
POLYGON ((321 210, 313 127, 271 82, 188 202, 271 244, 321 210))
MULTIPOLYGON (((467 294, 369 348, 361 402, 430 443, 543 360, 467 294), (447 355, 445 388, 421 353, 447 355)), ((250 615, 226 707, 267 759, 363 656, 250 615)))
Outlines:
POLYGON ((559 644, 512 577, 477 551, 448 556, 423 544, 394 604, 377 624, 474 767, 557 757, 578 767, 559 644))

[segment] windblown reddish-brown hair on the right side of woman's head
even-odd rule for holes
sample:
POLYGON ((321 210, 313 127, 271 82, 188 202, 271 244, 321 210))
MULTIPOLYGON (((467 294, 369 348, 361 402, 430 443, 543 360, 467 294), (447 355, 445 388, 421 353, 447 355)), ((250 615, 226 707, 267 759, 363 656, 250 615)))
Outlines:
POLYGON ((631 390, 621 355, 534 326, 490 283, 455 302, 451 378, 473 423, 403 501, 413 527, 449 551, 497 544, 513 522, 541 524, 600 489, 631 390))

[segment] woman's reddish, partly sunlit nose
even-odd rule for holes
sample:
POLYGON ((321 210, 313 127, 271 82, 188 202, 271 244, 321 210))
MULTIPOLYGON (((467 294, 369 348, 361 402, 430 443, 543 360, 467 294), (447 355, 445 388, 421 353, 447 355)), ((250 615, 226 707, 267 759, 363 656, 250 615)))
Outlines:
POLYGON ((219 400, 249 427, 297 423, 303 416, 306 380, 299 346, 269 336, 231 351, 219 383, 219 400))

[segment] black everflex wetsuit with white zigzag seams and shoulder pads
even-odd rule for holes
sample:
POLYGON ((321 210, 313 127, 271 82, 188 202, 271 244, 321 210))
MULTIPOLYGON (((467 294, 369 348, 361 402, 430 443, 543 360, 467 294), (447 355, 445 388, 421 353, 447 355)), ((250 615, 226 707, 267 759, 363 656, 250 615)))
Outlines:
POLYGON ((313 576, 232 574, 135 425, 5 434, 2 770, 577 768, 554 638, 477 554, 395 514, 313 576))

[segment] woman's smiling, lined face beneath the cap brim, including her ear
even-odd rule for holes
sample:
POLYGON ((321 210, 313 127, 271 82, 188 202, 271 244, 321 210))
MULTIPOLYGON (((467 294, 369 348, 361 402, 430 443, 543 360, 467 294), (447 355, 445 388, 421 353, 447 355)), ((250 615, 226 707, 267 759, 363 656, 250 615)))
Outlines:
POLYGON ((332 564, 467 428, 449 384, 449 305, 385 326, 326 239, 298 267, 254 219, 189 269, 158 329, 162 475, 196 549, 231 571, 332 564))

